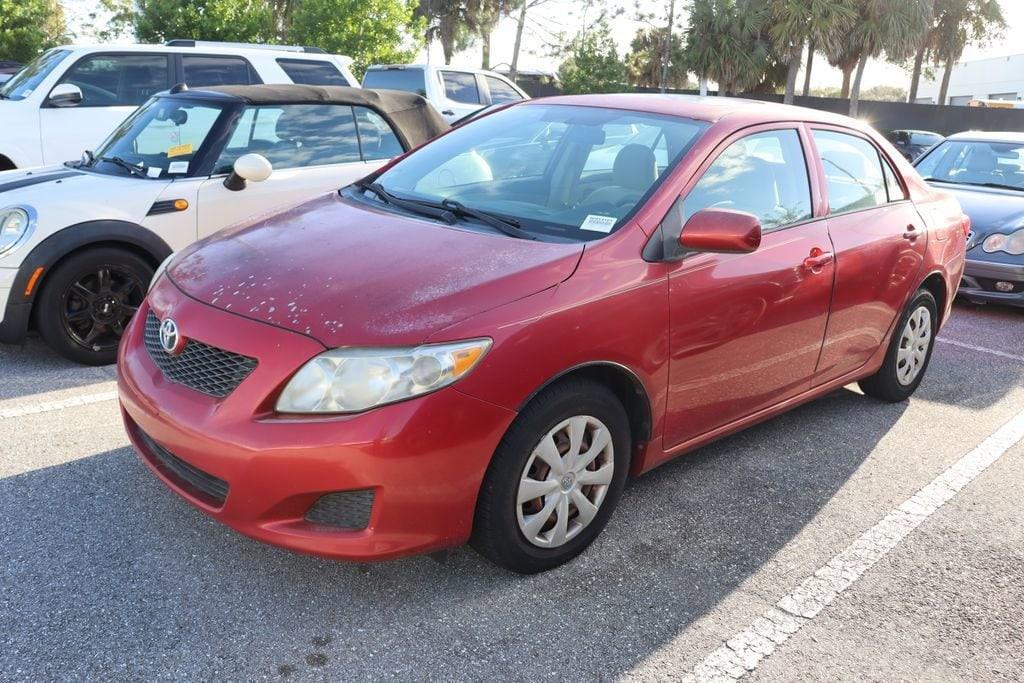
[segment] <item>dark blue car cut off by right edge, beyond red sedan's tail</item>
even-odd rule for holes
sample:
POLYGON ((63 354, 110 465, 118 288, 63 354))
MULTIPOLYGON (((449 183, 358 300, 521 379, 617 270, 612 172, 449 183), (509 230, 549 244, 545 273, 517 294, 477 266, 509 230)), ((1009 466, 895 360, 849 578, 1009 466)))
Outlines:
POLYGON ((971 217, 963 297, 1024 306, 1024 134, 957 133, 916 168, 971 217))

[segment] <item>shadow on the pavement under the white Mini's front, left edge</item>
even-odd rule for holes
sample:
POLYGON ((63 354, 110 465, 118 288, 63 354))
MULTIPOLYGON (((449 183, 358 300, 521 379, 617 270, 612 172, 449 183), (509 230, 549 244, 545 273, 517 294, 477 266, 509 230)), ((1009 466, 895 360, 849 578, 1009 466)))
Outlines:
POLYGON ((111 382, 117 376, 114 366, 90 368, 61 357, 35 335, 25 346, 0 344, 0 401, 111 382))

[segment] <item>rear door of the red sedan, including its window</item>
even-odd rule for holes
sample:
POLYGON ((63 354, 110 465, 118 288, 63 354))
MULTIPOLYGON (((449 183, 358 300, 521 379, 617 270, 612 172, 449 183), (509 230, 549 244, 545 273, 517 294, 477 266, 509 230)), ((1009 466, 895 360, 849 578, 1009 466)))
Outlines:
POLYGON ((867 362, 916 286, 928 230, 885 155, 867 137, 814 126, 828 204, 836 291, 814 384, 867 362))

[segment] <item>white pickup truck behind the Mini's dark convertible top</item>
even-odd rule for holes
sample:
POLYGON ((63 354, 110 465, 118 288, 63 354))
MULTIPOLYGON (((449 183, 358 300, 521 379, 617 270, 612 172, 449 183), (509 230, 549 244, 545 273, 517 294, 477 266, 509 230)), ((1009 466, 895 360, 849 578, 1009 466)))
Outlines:
POLYGON ((423 95, 449 123, 483 106, 529 99, 501 74, 431 65, 373 65, 362 77, 362 87, 423 95))

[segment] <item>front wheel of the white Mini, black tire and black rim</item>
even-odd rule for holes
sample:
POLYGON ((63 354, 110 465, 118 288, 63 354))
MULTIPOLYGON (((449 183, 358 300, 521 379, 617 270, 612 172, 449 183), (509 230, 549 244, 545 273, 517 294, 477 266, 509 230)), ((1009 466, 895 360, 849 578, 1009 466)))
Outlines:
POLYGON ((39 293, 35 316, 43 341, 75 362, 114 362, 153 270, 142 257, 116 247, 87 249, 66 258, 39 293))

